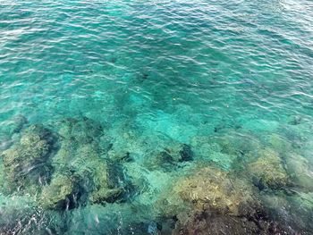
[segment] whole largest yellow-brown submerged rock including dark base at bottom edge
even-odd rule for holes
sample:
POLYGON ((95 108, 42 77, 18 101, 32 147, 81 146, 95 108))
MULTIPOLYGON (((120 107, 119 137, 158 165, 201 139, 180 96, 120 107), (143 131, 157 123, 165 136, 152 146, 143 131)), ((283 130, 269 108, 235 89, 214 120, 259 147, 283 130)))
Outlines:
POLYGON ((249 180, 205 166, 175 180, 157 209, 173 218, 173 234, 282 234, 256 195, 249 180))

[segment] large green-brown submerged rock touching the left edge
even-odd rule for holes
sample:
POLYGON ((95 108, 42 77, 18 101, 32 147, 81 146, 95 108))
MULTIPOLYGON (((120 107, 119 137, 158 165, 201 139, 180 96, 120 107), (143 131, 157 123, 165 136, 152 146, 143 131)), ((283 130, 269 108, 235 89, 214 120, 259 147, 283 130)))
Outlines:
POLYGON ((20 141, 2 154, 9 191, 28 189, 40 180, 47 180, 48 158, 54 144, 53 133, 41 125, 31 125, 22 131, 20 141))

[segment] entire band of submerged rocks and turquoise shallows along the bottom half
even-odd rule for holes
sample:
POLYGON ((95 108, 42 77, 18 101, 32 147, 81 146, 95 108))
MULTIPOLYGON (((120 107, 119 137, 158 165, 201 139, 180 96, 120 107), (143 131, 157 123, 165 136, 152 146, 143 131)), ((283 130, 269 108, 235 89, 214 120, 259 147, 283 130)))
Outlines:
POLYGON ((1 234, 312 234, 302 148, 242 130, 190 143, 23 122, 1 152, 1 234))

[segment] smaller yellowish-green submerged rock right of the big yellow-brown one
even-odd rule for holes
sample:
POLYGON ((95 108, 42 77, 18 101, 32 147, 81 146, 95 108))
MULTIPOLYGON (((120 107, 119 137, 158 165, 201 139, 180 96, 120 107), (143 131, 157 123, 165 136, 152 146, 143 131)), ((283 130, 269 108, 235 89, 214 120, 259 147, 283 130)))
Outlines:
POLYGON ((282 159, 270 148, 260 151, 258 159, 248 165, 248 171, 258 189, 281 189, 290 184, 282 159))

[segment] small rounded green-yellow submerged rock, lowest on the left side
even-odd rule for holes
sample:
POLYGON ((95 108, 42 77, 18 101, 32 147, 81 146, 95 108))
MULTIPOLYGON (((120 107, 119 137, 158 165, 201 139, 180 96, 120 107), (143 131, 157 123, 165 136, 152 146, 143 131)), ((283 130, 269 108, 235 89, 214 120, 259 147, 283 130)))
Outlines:
POLYGON ((49 185, 42 189, 40 204, 45 209, 66 207, 74 192, 74 183, 66 175, 56 175, 49 185))

